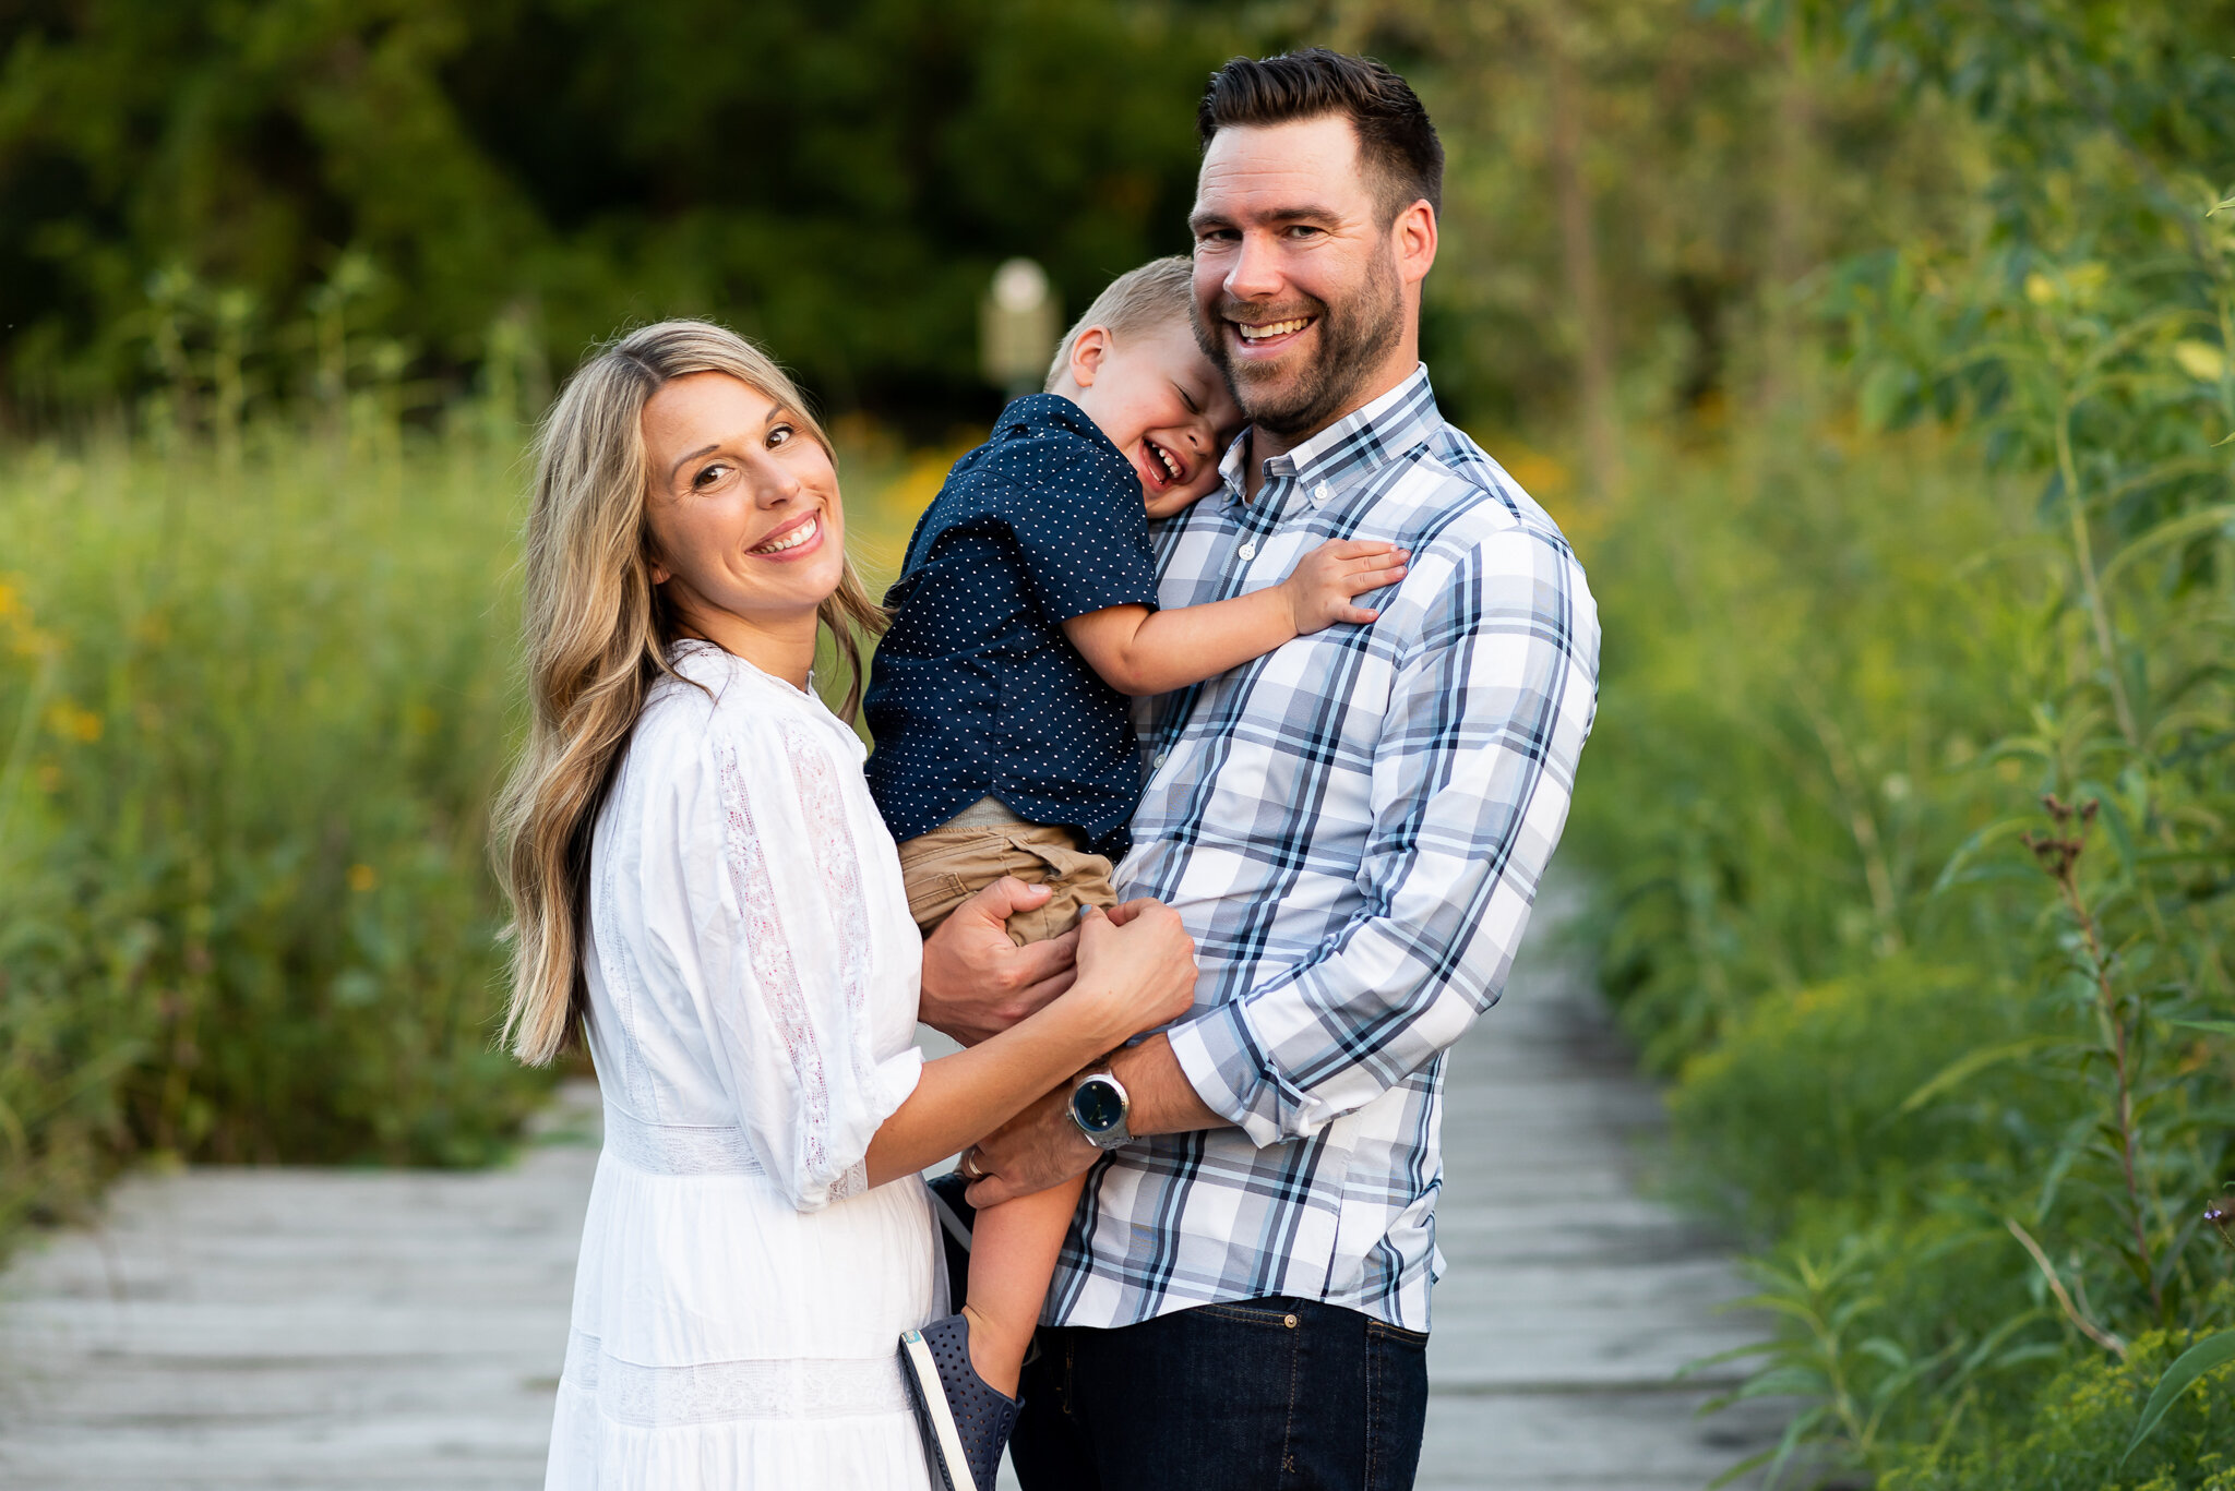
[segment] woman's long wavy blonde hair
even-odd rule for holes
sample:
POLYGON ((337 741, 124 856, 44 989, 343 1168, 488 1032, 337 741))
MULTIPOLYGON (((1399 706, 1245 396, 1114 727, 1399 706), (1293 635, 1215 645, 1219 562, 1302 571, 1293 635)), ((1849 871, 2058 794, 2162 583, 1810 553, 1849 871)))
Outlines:
MULTIPOLYGON (((644 700, 668 666, 677 617, 653 586, 644 405, 673 378, 729 373, 791 411, 831 449, 798 387, 764 351, 713 322, 659 322, 612 342, 561 389, 536 434, 525 543, 527 744, 496 800, 496 879, 512 901, 505 1044, 550 1062, 583 1013, 583 885, 590 829, 644 700)), ((836 460, 836 452, 834 452, 836 460)), ((822 601, 847 664, 843 715, 860 704, 867 644, 885 612, 847 563, 822 601)))

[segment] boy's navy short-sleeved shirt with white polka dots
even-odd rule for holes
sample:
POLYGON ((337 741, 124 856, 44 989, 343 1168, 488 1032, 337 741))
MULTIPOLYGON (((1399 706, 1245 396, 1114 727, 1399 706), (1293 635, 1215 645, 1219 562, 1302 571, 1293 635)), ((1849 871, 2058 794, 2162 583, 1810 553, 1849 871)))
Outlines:
POLYGON ((1155 557, 1133 463, 1086 411, 1033 393, 954 463, 914 536, 876 648, 869 791, 894 838, 979 798, 1080 829, 1120 858, 1140 800, 1122 693, 1062 624, 1155 606, 1155 557))

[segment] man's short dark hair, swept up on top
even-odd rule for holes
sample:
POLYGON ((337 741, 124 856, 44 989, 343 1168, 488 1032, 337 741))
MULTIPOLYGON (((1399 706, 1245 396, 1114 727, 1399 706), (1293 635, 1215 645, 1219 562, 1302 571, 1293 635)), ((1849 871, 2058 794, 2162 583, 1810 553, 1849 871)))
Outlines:
POLYGON ((1428 199, 1444 210, 1444 141, 1413 85, 1370 56, 1305 47, 1269 58, 1238 56, 1211 74, 1196 110, 1196 134, 1231 125, 1283 125, 1341 114, 1359 136, 1359 168, 1381 199, 1381 219, 1428 199))

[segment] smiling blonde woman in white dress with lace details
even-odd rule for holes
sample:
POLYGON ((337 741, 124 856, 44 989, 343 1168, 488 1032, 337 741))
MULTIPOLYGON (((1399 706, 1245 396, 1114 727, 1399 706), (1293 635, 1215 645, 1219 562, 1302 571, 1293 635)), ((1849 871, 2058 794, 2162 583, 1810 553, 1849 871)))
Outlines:
POLYGON ((550 1487, 923 1487, 894 1359, 945 1305, 919 1171, 1189 1001, 1171 912, 1095 914, 1066 995, 912 1048, 923 943, 809 688, 818 621, 858 697, 878 619, 843 543, 829 440, 720 326, 624 338, 543 429, 507 1037, 548 1062, 579 1022, 606 1098, 550 1487))

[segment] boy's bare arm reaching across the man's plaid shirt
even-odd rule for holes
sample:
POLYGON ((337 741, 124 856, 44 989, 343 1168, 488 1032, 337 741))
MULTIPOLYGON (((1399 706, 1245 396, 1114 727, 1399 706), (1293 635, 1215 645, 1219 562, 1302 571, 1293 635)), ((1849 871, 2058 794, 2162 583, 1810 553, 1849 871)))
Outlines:
POLYGON ((1064 635, 1118 693, 1164 693, 1200 684, 1292 637, 1334 621, 1372 621, 1350 597, 1404 579, 1408 554, 1392 543, 1330 539, 1278 586, 1231 601, 1149 610, 1111 606, 1064 621, 1064 635))

